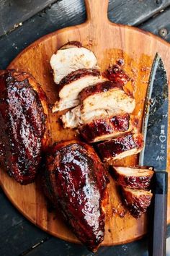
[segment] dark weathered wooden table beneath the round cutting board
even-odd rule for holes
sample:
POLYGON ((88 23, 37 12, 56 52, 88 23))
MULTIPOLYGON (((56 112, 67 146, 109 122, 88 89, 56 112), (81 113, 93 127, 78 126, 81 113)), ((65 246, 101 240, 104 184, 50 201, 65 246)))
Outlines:
MULTIPOLYGON (((170 0, 110 0, 108 16, 112 22, 137 26, 170 41, 170 0)), ((5 69, 22 49, 42 35, 85 20, 83 0, 0 0, 0 69, 5 69)), ((64 242, 32 225, 0 188, 0 255, 91 256, 92 253, 84 246, 64 242)), ((101 247, 97 255, 146 256, 147 237, 130 244, 101 247)))

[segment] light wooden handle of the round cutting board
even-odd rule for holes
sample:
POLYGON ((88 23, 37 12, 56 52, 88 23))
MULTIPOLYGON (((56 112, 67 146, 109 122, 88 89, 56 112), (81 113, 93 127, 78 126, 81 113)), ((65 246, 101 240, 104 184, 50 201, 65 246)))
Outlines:
POLYGON ((109 0, 84 0, 86 4, 87 22, 98 24, 107 22, 109 0))

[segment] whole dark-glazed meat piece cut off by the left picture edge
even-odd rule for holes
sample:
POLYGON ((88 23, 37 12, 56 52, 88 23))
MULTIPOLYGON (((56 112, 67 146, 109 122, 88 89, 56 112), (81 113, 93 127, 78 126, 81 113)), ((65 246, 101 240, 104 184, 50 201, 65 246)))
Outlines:
POLYGON ((0 77, 1 165, 20 184, 33 182, 46 146, 47 99, 31 74, 7 70, 0 77))

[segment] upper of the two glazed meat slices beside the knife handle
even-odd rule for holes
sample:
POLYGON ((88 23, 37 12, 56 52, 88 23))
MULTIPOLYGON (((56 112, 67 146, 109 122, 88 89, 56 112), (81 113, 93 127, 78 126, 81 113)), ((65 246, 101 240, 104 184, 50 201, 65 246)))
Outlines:
POLYGON ((130 189, 148 189, 153 176, 153 168, 110 166, 110 174, 117 184, 130 189))

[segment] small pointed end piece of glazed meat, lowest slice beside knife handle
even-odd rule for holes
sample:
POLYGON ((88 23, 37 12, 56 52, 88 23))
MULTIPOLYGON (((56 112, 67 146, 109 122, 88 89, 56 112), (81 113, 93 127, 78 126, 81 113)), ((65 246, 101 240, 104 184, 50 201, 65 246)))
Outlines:
POLYGON ((124 197, 125 205, 134 218, 140 218, 143 213, 146 213, 148 206, 151 205, 152 196, 151 191, 122 187, 122 197, 124 197))

